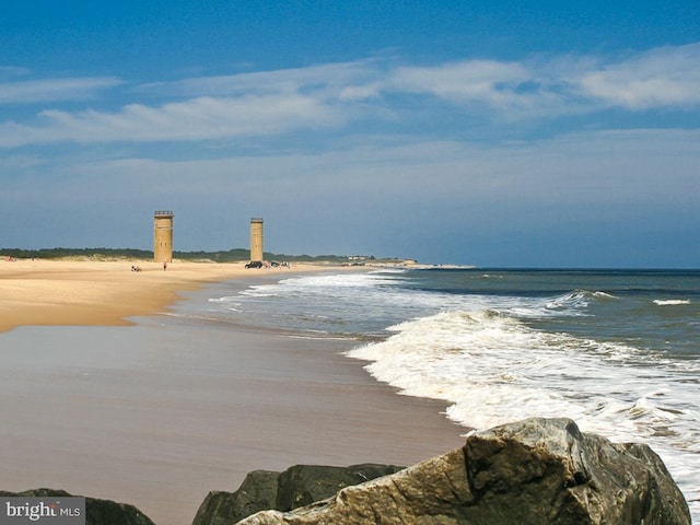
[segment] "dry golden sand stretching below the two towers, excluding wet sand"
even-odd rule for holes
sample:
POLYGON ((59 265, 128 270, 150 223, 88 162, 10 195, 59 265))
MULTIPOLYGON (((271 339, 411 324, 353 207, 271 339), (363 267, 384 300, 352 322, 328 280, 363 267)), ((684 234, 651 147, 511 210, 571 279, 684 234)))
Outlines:
POLYGON ((245 262, 9 259, 0 261, 0 332, 18 326, 122 326, 167 311, 180 293, 208 282, 342 267, 295 264, 246 269, 245 262), (138 271, 135 271, 138 269, 138 271))

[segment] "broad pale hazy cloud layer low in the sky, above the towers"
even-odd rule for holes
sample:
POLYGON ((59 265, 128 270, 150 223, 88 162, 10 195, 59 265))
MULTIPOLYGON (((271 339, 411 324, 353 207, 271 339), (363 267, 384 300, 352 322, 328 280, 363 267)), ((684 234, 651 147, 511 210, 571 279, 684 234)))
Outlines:
MULTIPOLYGON (((692 203, 700 192, 695 168, 700 165, 699 144, 700 131, 679 129, 582 131, 479 147, 366 136, 323 154, 79 161, 66 174, 80 174, 81 184, 90 177, 112 180, 114 192, 117 187, 141 192, 143 185, 143 190, 158 188, 158 192, 166 188, 179 199, 197 195, 198 201, 210 202, 235 195, 241 201, 300 209, 319 202, 371 205, 377 199, 404 207, 424 202, 436 210, 475 205, 508 208, 513 202, 692 203), (208 184, 192 187, 192 174, 208 184), (167 184, 149 184, 149 177, 167 184), (270 187, 276 191, 266 190, 270 187)), ((65 177, 59 180, 66 184, 65 177)))

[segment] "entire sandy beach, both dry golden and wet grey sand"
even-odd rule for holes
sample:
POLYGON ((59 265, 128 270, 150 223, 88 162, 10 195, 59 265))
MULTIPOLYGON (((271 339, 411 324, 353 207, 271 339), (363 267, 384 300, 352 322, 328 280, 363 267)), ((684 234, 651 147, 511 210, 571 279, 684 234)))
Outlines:
POLYGON ((249 470, 410 465, 463 444, 440 402, 399 396, 343 357, 351 341, 187 315, 222 293, 212 287, 323 268, 139 264, 1 262, 2 489, 60 488, 186 525, 249 470))

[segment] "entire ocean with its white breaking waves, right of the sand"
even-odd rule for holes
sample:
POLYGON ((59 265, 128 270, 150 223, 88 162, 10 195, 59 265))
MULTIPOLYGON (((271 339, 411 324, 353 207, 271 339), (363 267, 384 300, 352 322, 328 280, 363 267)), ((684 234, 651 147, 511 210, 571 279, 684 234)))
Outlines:
POLYGON ((402 394, 444 400, 465 432, 568 417, 648 443, 700 523, 700 271, 281 276, 208 310, 292 337, 350 339, 349 359, 402 394))

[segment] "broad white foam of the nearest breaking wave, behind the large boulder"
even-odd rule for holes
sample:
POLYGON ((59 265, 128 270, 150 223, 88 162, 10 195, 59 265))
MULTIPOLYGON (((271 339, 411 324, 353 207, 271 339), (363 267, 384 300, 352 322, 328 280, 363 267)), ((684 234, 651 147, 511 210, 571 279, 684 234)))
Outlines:
MULTIPOLYGON (((353 349, 402 394, 444 400, 450 419, 486 429, 526 417, 569 417, 612 441, 649 443, 700 495, 700 363, 682 373, 626 345, 534 330, 494 311, 443 312, 389 328, 353 349)), ((691 499, 691 495, 688 497, 691 499)))

